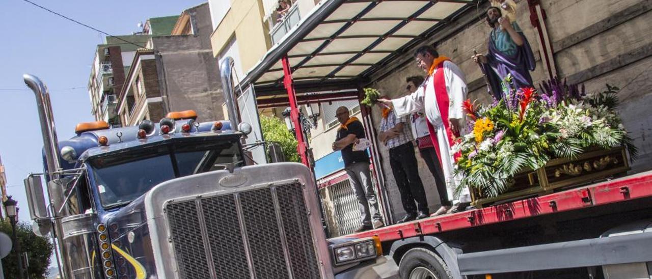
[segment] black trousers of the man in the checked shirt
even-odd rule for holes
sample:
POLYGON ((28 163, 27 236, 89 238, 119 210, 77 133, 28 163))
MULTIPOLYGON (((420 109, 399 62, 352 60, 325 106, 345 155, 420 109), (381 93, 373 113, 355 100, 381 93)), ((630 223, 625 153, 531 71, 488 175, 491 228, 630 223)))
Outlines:
POLYGON ((417 157, 414 156, 414 145, 408 142, 389 149, 389 166, 392 167, 406 213, 417 214, 417 210, 424 214, 430 213, 426 191, 423 190, 423 183, 419 177, 417 157))

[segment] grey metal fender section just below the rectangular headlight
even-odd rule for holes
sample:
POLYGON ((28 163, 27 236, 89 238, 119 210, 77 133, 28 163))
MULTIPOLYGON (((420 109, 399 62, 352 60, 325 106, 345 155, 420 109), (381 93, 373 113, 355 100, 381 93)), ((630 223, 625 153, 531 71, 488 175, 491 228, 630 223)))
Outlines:
POLYGON ((378 257, 335 274, 335 279, 399 279, 398 265, 389 256, 378 257))

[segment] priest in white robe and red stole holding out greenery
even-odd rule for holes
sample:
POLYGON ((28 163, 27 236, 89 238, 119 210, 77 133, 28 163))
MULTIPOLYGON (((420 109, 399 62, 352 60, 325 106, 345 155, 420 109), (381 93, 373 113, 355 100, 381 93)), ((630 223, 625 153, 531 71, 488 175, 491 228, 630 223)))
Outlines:
POLYGON ((467 87, 464 73, 447 57, 439 56, 432 46, 421 46, 415 51, 419 68, 428 73, 426 80, 411 95, 394 100, 379 99, 379 102, 394 108, 397 117, 424 110, 428 129, 437 158, 444 173, 447 194, 453 206, 442 205, 433 215, 464 211, 471 201, 468 189, 456 193, 459 177, 452 174, 455 158, 451 147, 455 139, 464 132, 465 113, 462 102, 466 100, 467 87))

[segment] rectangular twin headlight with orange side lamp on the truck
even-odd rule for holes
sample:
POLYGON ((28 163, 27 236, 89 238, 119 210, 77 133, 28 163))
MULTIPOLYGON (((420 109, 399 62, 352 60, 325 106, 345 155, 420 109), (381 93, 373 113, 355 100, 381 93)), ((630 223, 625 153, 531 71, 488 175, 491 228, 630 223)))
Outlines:
POLYGON ((378 237, 368 237, 333 246, 335 265, 373 259, 383 254, 378 237))

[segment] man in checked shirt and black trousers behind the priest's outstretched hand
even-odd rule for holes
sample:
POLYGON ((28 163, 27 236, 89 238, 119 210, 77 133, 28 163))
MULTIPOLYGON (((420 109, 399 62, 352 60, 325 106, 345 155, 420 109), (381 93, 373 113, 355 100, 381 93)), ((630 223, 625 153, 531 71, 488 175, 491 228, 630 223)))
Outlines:
MULTIPOLYGON (((387 97, 381 96, 381 98, 387 97)), ((389 166, 392 168, 403 209, 406 211, 406 216, 398 223, 426 218, 430 215, 430 210, 426 191, 423 190, 423 183, 419 177, 417 157, 414 156, 413 138, 408 124, 409 115, 396 117, 394 110, 381 102, 378 103, 378 108, 381 109, 383 116, 378 139, 389 148, 389 166)))

